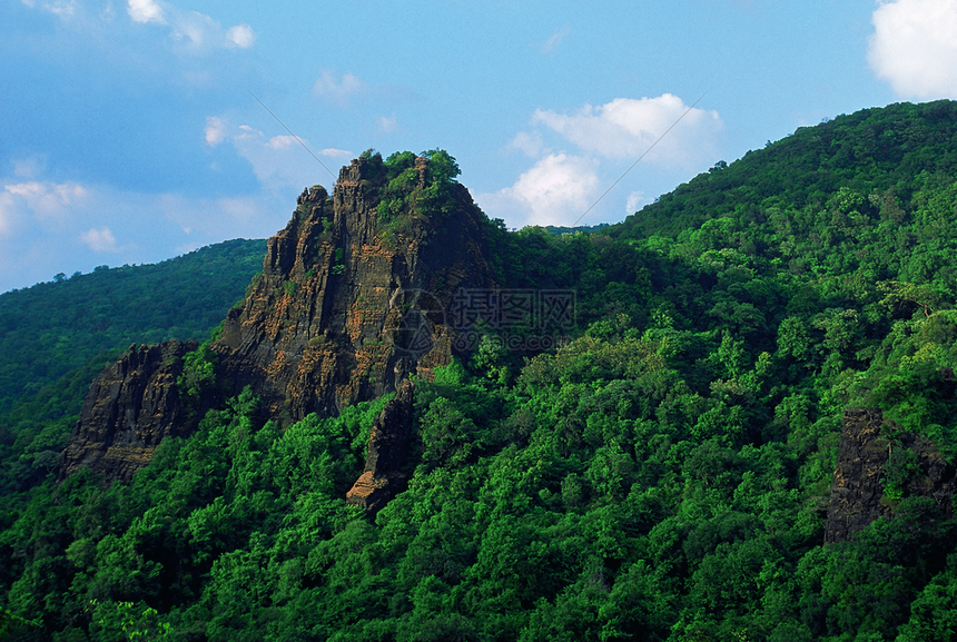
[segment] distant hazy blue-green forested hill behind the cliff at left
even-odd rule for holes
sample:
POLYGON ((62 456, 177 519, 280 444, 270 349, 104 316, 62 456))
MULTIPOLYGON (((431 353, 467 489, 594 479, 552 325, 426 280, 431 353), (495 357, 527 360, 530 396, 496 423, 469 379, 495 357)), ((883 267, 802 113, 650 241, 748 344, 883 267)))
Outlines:
POLYGON ((230 240, 0 295, 2 492, 56 468, 90 382, 120 350, 208 337, 262 269, 265 247, 230 240))

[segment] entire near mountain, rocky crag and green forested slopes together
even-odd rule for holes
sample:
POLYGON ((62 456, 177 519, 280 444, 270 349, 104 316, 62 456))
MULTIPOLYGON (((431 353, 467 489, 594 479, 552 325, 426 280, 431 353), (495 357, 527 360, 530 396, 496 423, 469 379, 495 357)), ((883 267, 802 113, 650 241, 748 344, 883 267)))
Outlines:
POLYGON ((955 116, 838 117, 561 235, 366 152, 219 333, 120 355, 6 484, 0 606, 50 640, 953 638, 955 116))

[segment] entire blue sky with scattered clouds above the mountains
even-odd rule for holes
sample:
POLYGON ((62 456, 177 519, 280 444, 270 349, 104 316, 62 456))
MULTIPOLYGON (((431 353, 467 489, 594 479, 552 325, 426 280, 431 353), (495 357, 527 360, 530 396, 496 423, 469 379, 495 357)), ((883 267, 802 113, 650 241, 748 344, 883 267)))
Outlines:
POLYGON ((442 148, 510 227, 618 221, 798 127, 957 98, 957 0, 3 0, 0 56, 6 292, 275 234, 335 181, 257 98, 334 174, 442 148))

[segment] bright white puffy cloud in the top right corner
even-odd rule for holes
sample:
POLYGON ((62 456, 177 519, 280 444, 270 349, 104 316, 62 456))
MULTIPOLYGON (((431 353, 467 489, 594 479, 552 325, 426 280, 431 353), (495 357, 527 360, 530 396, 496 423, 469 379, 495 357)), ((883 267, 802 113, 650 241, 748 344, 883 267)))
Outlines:
POLYGON ((957 0, 880 2, 868 61, 901 96, 957 98, 957 0))

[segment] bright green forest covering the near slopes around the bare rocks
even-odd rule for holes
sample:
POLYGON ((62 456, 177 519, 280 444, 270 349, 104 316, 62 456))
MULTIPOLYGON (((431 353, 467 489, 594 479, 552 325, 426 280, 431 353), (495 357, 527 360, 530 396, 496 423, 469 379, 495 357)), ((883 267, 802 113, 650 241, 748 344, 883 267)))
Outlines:
POLYGON ((953 482, 955 144, 957 103, 894 105, 718 164, 592 234, 486 221, 500 285, 573 293, 573 323, 480 328, 414 377, 407 491, 377 513, 345 502, 389 396, 283 428, 247 391, 129 485, 8 481, 0 626, 957 639, 957 522, 921 463, 953 482), (861 406, 886 419, 865 454, 882 457, 886 516, 826 545, 845 412, 861 406))

